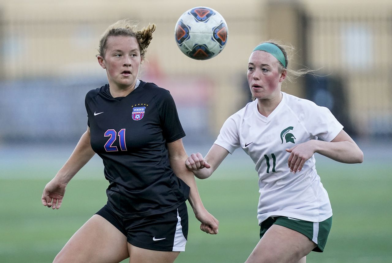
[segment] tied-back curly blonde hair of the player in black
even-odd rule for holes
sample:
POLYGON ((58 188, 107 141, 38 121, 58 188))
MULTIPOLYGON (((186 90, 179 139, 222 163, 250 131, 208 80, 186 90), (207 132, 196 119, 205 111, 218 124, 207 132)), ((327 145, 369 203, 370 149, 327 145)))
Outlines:
POLYGON ((147 52, 147 47, 149 46, 152 33, 155 31, 155 24, 149 24, 147 27, 143 27, 141 30, 137 30, 138 23, 129 19, 119 20, 113 25, 109 26, 99 41, 99 55, 105 57, 105 52, 107 48, 107 39, 111 36, 125 36, 134 37, 139 43, 140 56, 144 60, 145 53, 147 52))

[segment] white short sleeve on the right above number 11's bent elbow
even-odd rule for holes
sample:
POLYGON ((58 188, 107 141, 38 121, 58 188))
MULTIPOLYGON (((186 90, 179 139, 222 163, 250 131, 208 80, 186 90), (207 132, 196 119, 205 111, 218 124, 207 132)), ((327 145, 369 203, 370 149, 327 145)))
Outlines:
POLYGON ((315 105, 310 115, 310 120, 306 128, 311 135, 317 136, 323 139, 323 141, 332 141, 343 129, 343 125, 326 107, 315 105))

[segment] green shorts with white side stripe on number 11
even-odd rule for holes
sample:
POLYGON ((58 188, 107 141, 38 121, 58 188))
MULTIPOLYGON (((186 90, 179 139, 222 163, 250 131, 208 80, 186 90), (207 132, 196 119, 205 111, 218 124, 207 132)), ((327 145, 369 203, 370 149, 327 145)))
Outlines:
POLYGON ((265 221, 261 222, 260 238, 274 224, 290 228, 307 236, 317 244, 317 247, 313 251, 323 252, 329 231, 331 230, 332 216, 321 222, 310 222, 285 216, 268 217, 265 221))

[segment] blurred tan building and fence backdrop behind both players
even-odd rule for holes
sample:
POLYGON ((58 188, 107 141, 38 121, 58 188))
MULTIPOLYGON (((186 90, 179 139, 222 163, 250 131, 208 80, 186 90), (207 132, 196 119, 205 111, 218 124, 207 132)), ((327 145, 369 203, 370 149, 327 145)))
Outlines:
POLYGON ((296 47, 293 68, 319 69, 320 77, 283 91, 327 106, 352 135, 392 135, 390 0, 1 0, 1 141, 80 137, 85 93, 107 81, 95 57, 100 35, 122 18, 156 24, 141 79, 171 91, 195 141, 216 137, 250 101, 247 61, 269 39, 296 47), (211 60, 186 57, 174 41, 180 15, 198 5, 229 27, 227 46, 211 60))

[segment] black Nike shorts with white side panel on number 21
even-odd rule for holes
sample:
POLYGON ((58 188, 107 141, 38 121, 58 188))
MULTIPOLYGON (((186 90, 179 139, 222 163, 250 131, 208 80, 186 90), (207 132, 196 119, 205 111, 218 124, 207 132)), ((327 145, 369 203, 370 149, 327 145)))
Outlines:
POLYGON ((135 247, 158 251, 185 251, 188 237, 188 211, 184 202, 174 210, 147 217, 122 218, 107 205, 96 212, 126 237, 135 247))

